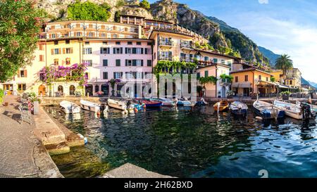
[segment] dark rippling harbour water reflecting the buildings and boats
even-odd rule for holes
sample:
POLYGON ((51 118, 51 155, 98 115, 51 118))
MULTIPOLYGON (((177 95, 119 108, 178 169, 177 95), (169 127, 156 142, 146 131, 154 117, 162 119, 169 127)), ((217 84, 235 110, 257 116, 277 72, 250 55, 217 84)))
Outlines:
POLYGON ((53 156, 65 177, 97 177, 126 162, 173 177, 259 177, 261 169, 268 177, 317 177, 315 120, 263 123, 252 110, 236 120, 211 107, 107 117, 46 111, 89 141, 53 156))

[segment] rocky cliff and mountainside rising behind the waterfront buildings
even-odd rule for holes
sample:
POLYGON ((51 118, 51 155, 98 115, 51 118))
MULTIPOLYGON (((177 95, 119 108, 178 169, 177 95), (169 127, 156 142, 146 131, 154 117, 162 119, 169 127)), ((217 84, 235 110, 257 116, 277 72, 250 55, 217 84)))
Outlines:
MULTIPOLYGON (((63 20, 67 18, 67 6, 76 0, 39 0, 37 5, 44 8, 50 15, 51 20, 63 20)), ((87 1, 87 0, 77 0, 87 1)), ((226 53, 240 52, 245 58, 259 65, 268 64, 268 58, 264 57, 259 48, 251 39, 247 38, 239 30, 228 26, 217 18, 207 17, 199 11, 190 9, 186 4, 178 4, 173 0, 161 0, 151 4, 146 10, 139 6, 138 0, 89 0, 96 4, 104 2, 111 6, 111 18, 114 20, 116 11, 127 15, 140 15, 149 19, 165 20, 178 23, 184 27, 209 37, 210 44, 214 49, 224 50, 226 53)))

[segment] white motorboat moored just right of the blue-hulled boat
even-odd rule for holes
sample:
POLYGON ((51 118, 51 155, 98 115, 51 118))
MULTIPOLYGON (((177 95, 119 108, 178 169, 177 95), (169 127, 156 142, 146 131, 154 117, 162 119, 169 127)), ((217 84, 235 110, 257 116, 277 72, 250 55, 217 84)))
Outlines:
POLYGON ((280 108, 281 110, 285 110, 285 115, 292 117, 297 120, 303 119, 302 108, 299 105, 286 103, 283 101, 274 101, 274 105, 276 108, 280 108))

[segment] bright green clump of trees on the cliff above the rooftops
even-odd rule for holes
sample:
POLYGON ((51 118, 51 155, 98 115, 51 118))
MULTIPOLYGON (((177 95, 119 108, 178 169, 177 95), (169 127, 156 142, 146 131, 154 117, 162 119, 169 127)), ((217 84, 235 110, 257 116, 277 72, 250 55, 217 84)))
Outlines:
POLYGON ((67 13, 71 20, 107 21, 111 16, 110 8, 111 6, 106 3, 99 6, 89 1, 83 3, 76 1, 75 4, 68 6, 67 13))

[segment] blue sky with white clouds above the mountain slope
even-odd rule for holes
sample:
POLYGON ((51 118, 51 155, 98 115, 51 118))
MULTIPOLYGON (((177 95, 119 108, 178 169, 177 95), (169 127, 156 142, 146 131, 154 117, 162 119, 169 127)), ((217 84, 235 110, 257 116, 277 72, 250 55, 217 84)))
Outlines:
POLYGON ((317 82, 316 0, 174 1, 225 21, 258 46, 290 55, 294 68, 305 79, 317 82))

